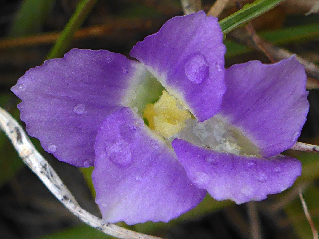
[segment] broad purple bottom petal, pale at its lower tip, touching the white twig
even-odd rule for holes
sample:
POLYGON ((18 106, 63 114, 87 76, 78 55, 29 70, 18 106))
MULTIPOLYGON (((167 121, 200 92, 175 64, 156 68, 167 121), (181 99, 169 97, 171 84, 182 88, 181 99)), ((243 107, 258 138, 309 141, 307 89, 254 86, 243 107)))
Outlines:
POLYGON ((130 108, 108 116, 94 149, 92 179, 104 221, 167 222, 205 196, 191 184, 173 149, 130 108))

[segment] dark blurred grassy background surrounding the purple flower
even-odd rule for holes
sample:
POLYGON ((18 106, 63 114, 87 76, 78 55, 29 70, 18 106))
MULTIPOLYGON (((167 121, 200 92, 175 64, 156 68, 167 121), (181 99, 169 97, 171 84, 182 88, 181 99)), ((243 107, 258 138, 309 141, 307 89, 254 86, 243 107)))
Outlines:
MULTIPOLYGON (((241 1, 242 4, 251 2, 241 1)), ((271 2, 275 1, 268 1, 268 4, 271 2)), ((203 0, 203 9, 207 12, 213 3, 203 0)), ((316 0, 286 0, 252 23, 263 39, 318 65, 319 14, 305 16, 316 3, 316 0)), ((73 47, 107 49, 128 56, 137 41, 158 31, 169 18, 183 14, 178 0, 2 0, 0 4, 0 105, 16 119, 19 119, 16 108, 19 99, 11 93, 10 87, 27 69, 42 64, 45 59, 62 57, 73 47)), ((219 19, 237 10, 230 1, 219 19)), ((256 59, 270 63, 265 54, 238 43, 236 34, 243 34, 242 30, 226 34, 226 66, 256 59)), ((308 77, 310 112, 299 140, 319 145, 317 80, 308 77)), ((99 216, 93 199, 92 168, 79 170, 61 163, 44 152, 39 141, 32 140, 81 206, 99 216)), ((303 173, 285 192, 240 206, 207 196, 195 209, 168 224, 148 222, 130 229, 169 238, 256 238, 252 237, 251 228, 257 220, 259 226, 254 227, 260 238, 312 238, 298 189, 303 189, 318 228, 319 155, 293 151, 286 154, 302 162, 303 173)), ((119 225, 127 227, 124 223, 119 225)), ((23 165, 10 141, 0 132, 0 238, 111 237, 84 225, 70 214, 23 165)))

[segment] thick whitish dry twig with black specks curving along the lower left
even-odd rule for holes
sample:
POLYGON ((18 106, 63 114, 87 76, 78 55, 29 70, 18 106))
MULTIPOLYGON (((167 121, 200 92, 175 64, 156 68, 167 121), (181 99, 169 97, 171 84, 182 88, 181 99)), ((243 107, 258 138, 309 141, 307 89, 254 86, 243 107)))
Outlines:
POLYGON ((40 178, 44 185, 76 217, 89 226, 108 235, 122 239, 160 239, 161 237, 137 233, 102 220, 81 208, 69 189, 63 184, 49 163, 34 148, 28 136, 18 122, 0 107, 0 128, 11 140, 23 162, 40 178))

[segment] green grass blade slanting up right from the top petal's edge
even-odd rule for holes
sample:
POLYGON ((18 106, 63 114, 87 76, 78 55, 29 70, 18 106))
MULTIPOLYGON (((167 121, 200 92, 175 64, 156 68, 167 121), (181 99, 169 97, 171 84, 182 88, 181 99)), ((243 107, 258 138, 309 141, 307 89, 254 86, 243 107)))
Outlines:
POLYGON ((236 27, 249 22, 250 20, 260 16, 276 7, 284 0, 257 0, 251 4, 245 4, 244 7, 219 21, 219 25, 224 34, 229 33, 236 27))

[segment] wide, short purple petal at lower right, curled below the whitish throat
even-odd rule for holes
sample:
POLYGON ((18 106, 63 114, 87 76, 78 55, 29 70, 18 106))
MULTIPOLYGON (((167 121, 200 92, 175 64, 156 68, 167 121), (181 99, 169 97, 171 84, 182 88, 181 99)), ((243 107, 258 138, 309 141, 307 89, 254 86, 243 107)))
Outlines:
POLYGON ((268 159, 238 156, 200 148, 174 139, 172 146, 189 179, 216 200, 237 204, 263 200, 282 192, 301 174, 301 163, 278 155, 268 159))

